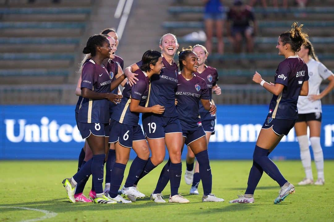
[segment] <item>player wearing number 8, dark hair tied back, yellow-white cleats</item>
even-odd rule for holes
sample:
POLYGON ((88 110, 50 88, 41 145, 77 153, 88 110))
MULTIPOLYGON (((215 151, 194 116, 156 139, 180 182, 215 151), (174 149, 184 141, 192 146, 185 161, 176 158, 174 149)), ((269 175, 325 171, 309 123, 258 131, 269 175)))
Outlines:
POLYGON ((77 113, 77 126, 82 138, 86 138, 93 152, 93 157, 86 162, 71 178, 65 178, 62 183, 71 202, 75 202, 74 191, 78 182, 93 175, 96 190, 96 203, 116 203, 108 199, 103 193, 103 165, 106 157, 105 135, 109 123, 109 101, 118 102, 122 96, 110 93, 124 79, 118 78, 111 84, 109 73, 103 61, 110 57, 109 40, 103 35, 91 36, 84 54, 91 54, 92 58, 82 68, 81 98, 77 113), (112 88, 112 86, 114 88, 112 88))

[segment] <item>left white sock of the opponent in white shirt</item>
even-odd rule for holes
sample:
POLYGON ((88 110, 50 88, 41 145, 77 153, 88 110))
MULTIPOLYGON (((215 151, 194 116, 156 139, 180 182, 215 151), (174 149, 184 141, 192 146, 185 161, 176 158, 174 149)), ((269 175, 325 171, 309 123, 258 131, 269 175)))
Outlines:
POLYGON ((297 140, 300 148, 300 159, 302 160, 302 164, 305 169, 306 178, 313 180, 309 138, 307 135, 302 135, 297 136, 297 140))

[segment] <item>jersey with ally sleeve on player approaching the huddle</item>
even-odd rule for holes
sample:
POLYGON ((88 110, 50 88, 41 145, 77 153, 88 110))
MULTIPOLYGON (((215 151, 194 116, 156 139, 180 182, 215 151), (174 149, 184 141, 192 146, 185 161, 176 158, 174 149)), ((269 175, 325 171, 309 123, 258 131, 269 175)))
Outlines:
POLYGON ((275 84, 284 85, 280 95, 273 95, 269 116, 277 119, 297 119, 297 101, 304 81, 309 80, 307 65, 298 56, 290 56, 278 65, 275 84))

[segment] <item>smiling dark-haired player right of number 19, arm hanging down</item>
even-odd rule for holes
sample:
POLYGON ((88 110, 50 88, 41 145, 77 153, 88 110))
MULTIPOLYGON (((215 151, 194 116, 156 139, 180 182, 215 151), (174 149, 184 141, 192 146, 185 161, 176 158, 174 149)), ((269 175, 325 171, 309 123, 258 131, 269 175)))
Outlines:
POLYGON ((216 106, 210 101, 209 89, 204 79, 195 73, 198 69, 198 57, 190 49, 179 54, 180 74, 175 93, 177 99, 176 110, 182 127, 183 143, 190 146, 199 163, 199 174, 203 184, 203 202, 222 202, 224 199, 211 193, 212 175, 207 151, 206 133, 199 117, 199 104, 216 114, 216 106))

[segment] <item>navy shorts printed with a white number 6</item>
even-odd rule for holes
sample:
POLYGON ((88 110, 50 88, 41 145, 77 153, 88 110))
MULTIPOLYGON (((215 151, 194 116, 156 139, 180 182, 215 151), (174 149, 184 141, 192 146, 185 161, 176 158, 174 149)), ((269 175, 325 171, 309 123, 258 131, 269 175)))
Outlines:
POLYGON ((110 120, 109 143, 119 142, 122 146, 132 148, 132 142, 145 140, 142 127, 119 123, 114 119, 110 120))

